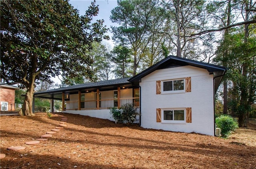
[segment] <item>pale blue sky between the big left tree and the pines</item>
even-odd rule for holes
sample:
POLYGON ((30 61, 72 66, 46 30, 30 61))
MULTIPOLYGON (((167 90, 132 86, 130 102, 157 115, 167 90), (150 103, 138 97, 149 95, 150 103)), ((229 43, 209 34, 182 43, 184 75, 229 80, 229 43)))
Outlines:
MULTIPOLYGON (((85 11, 88 9, 93 0, 70 0, 70 4, 74 6, 74 8, 79 10, 80 15, 84 15, 85 11)), ((116 23, 112 23, 110 20, 111 10, 117 6, 117 0, 96 0, 96 5, 99 5, 99 14, 95 16, 95 21, 98 19, 104 20, 104 25, 107 26, 110 30, 107 35, 110 37, 108 41, 112 47, 114 47, 114 42, 112 41, 112 33, 110 26, 118 26, 116 23)))

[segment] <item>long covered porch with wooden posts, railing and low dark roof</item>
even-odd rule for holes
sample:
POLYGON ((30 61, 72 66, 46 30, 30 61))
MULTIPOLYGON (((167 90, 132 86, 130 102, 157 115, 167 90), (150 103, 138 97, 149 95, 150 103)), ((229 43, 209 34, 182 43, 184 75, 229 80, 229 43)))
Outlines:
POLYGON ((65 112, 120 108, 126 103, 133 103, 134 107, 139 107, 139 87, 133 86, 128 79, 61 87, 34 93, 34 97, 51 99, 51 112, 54 111, 53 100, 62 100, 62 111, 65 112))

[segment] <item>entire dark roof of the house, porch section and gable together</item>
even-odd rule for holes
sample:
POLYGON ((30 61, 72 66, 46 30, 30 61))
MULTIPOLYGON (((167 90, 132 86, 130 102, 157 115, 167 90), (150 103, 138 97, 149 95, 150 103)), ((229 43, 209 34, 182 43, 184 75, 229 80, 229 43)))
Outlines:
POLYGON ((176 56, 168 56, 167 58, 161 60, 157 64, 154 64, 150 68, 142 71, 132 78, 114 79, 114 80, 104 80, 101 82, 90 82, 85 84, 71 85, 67 87, 61 87, 58 89, 52 89, 48 91, 36 92, 34 97, 48 98, 48 99, 62 99, 62 92, 64 93, 78 93, 78 91, 86 90, 108 90, 115 89, 118 86, 130 87, 132 85, 138 86, 140 84, 141 78, 147 76, 148 74, 154 72, 155 70, 174 68, 179 66, 195 66, 198 68, 203 68, 208 70, 209 74, 214 75, 214 91, 216 92, 218 86, 221 82, 222 76, 226 72, 226 68, 223 66, 217 66, 213 64, 207 64, 204 62, 198 62, 195 60, 184 59, 176 56))

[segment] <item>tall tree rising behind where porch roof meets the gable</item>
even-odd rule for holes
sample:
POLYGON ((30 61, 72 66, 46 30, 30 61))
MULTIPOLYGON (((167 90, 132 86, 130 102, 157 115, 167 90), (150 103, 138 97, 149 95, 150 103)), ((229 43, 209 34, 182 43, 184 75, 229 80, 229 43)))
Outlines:
POLYGON ((120 24, 119 27, 112 27, 114 41, 132 50, 133 76, 146 56, 152 26, 151 15, 157 5, 157 0, 120 0, 111 11, 110 20, 120 24))

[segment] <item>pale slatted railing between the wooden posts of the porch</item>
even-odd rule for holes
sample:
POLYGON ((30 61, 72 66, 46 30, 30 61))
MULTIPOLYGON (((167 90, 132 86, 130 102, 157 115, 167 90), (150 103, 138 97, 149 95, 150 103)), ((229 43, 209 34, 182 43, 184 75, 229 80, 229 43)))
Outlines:
MULTIPOLYGON (((120 106, 126 103, 134 103, 134 107, 139 107, 139 97, 122 98, 120 99, 120 106)), ((83 109, 97 109, 97 100, 81 101, 80 108, 83 109)), ((117 107, 117 99, 102 99, 99 100, 100 109, 109 109, 111 107, 117 107)), ((66 103, 67 110, 78 110, 78 101, 72 101, 66 103)))

